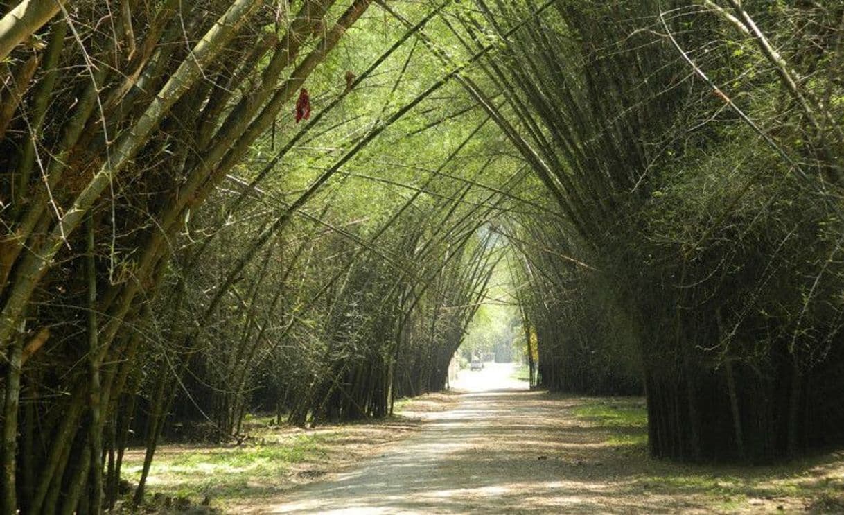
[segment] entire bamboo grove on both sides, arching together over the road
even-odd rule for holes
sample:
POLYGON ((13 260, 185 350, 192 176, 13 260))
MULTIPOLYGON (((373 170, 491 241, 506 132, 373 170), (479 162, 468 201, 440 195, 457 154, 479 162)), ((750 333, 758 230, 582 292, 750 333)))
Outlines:
POLYGON ((0 1, 0 510, 440 391, 496 268, 538 384, 644 393, 654 455, 841 443, 842 16, 0 1))

